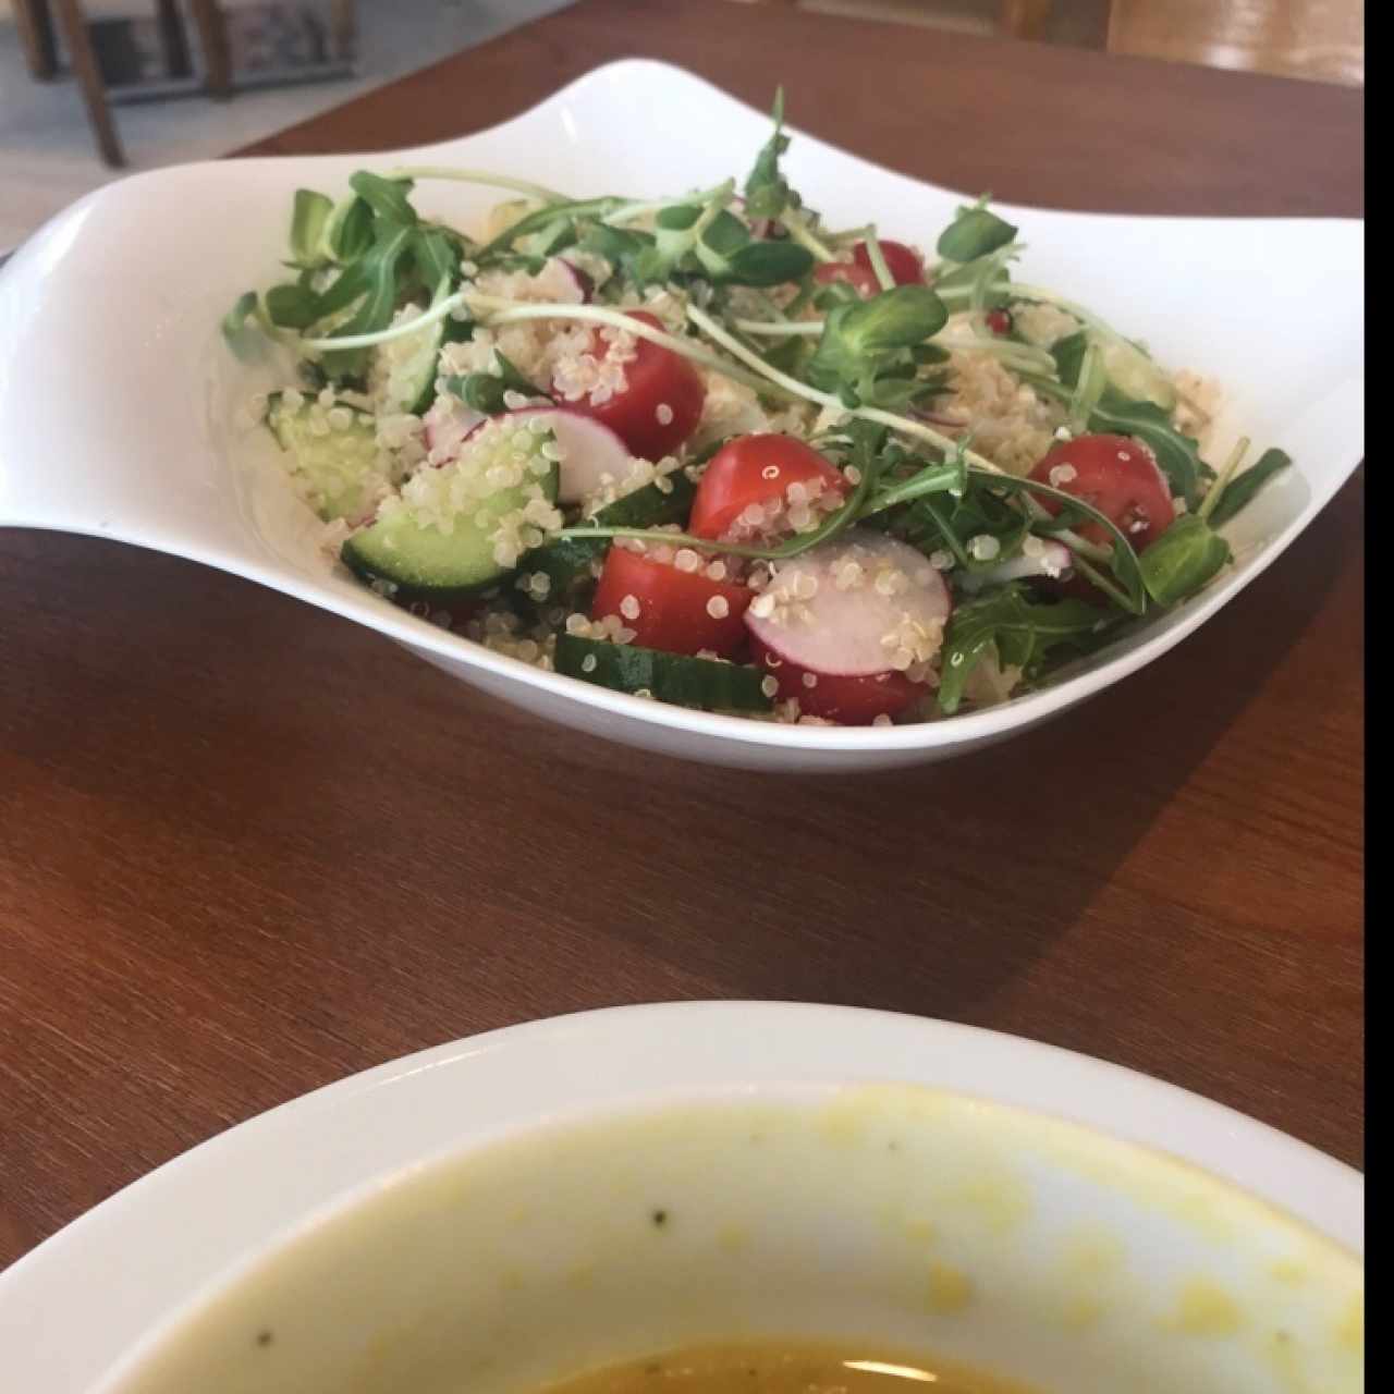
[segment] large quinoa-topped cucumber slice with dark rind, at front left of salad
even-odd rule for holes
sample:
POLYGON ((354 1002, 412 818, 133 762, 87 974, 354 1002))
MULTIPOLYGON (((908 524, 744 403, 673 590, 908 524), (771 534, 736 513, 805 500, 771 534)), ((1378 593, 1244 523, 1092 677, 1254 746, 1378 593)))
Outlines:
POLYGON ((491 421, 439 470, 420 470, 343 545, 344 565, 399 601, 449 602, 516 570, 527 527, 555 527, 549 429, 491 421))

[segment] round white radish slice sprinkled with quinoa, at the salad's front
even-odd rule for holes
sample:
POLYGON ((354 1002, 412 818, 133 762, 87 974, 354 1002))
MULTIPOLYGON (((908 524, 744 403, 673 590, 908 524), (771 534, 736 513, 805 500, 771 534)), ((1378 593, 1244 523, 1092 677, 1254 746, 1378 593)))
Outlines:
POLYGON ((746 626, 799 668, 860 677, 933 657, 952 608, 921 552, 853 530, 782 563, 746 626))

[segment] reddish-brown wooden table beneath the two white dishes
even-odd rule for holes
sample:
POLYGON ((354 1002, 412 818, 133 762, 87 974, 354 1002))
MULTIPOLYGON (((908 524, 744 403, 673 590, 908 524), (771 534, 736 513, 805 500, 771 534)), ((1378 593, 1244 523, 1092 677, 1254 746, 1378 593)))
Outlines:
MULTIPOLYGON (((622 54, 1002 198, 1361 212, 1351 91, 711 0, 594 0, 259 149, 454 135, 622 54)), ((351 1071, 680 997, 1018 1032, 1358 1164, 1362 488, 1144 675, 842 781, 577 740, 247 581, 4 535, 0 1263, 351 1071)))

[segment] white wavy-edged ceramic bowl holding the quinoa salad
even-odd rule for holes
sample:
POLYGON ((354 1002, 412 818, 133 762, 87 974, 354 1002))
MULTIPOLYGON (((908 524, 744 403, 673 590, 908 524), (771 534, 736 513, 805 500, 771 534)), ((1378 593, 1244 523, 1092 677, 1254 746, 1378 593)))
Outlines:
MULTIPOLYGON (((790 99, 797 113, 799 93, 790 99)), ((1359 463, 1362 223, 1008 206, 1029 243, 1030 282, 1096 307, 1161 361, 1225 383, 1216 450, 1243 434, 1259 447, 1282 446, 1298 466, 1235 521, 1241 560, 1218 584, 1047 690, 917 726, 749 722, 542 673, 336 574, 314 546, 316 528, 289 495, 266 432, 237 425, 251 393, 272 385, 270 368, 237 362, 217 333, 236 297, 275 273, 293 190, 335 190, 354 169, 400 160, 492 167, 577 194, 671 192, 739 173, 767 137, 764 114, 680 70, 629 60, 505 125, 443 145, 192 164, 107 185, 50 222, 0 272, 0 526, 91 533, 220 566, 594 735, 718 764, 857 769, 999 740, 1142 668, 1270 565, 1359 463)), ((963 198, 807 135, 796 137, 788 166, 834 223, 871 213, 887 236, 907 241, 928 240, 963 198)), ((418 202, 471 216, 495 197, 428 184, 418 202)))

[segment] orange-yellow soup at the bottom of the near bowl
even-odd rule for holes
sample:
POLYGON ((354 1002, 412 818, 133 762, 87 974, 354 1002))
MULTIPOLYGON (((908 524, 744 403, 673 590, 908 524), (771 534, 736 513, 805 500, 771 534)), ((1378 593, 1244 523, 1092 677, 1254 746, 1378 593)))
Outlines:
POLYGON ((1036 1394, 1027 1386, 952 1361, 875 1348, 701 1345, 608 1365, 541 1394, 1036 1394))

